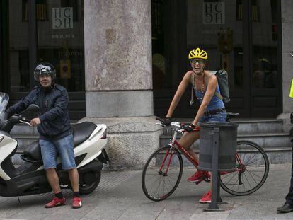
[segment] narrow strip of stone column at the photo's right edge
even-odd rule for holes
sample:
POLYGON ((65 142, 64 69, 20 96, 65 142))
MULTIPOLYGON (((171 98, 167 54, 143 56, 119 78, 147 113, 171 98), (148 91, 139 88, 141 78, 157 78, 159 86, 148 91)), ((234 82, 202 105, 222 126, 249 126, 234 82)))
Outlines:
POLYGON ((293 99, 289 98, 289 91, 293 78, 293 1, 282 0, 282 88, 283 88, 283 112, 277 118, 283 120, 283 129, 289 131, 292 125, 289 122, 289 112, 293 112, 293 99))

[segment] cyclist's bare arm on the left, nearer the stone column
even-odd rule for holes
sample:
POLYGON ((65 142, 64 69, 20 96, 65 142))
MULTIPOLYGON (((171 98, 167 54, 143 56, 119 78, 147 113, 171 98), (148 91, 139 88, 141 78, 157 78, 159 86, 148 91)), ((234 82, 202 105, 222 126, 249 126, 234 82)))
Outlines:
POLYGON ((175 110, 176 106, 178 105, 180 98, 182 97, 183 93, 185 92, 185 89, 188 87, 188 84, 190 83, 190 74, 192 74, 192 71, 188 71, 182 81, 180 82, 177 91, 173 97, 173 100, 171 102, 170 108, 168 110, 168 113, 166 117, 171 117, 173 115, 173 111, 175 110))

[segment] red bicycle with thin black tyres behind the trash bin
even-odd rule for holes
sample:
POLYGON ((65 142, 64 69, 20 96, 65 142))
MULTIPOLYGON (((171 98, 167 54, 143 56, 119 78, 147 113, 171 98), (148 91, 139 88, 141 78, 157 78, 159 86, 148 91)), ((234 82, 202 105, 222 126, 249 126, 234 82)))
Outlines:
MULTIPOLYGON (((227 121, 235 115, 239 114, 227 113, 227 121)), ((178 133, 185 132, 180 122, 171 122, 171 128, 174 131, 171 142, 151 154, 142 171, 142 190, 153 201, 166 199, 178 187, 183 173, 180 152, 194 166, 198 166, 198 161, 176 141, 178 133)), ((268 177, 268 156, 252 141, 237 141, 235 156, 236 170, 221 172, 220 186, 231 195, 249 195, 258 190, 268 177)), ((205 176, 204 180, 209 182, 209 175, 205 176)))

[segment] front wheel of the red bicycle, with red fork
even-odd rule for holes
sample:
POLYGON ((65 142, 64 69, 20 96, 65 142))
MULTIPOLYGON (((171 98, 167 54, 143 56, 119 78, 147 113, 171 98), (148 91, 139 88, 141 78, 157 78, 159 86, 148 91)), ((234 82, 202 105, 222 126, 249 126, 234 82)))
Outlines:
POLYGON ((153 201, 169 197, 178 187, 183 172, 183 161, 177 149, 165 146, 155 151, 142 171, 142 190, 153 201))

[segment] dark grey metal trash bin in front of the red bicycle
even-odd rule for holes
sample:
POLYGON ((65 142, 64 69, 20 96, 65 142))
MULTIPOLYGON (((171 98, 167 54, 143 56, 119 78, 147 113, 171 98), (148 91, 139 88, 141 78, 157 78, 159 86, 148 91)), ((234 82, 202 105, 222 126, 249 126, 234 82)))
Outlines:
POLYGON ((202 122, 200 125, 200 170, 212 171, 214 144, 219 144, 219 171, 233 171, 236 166, 237 124, 231 122, 202 122), (219 143, 214 129, 218 128, 219 143))

